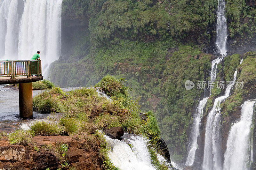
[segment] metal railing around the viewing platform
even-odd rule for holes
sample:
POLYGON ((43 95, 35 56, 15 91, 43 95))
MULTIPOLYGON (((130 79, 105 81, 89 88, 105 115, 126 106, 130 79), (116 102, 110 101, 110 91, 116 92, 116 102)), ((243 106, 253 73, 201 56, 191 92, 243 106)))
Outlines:
POLYGON ((42 76, 41 60, 0 61, 0 77, 42 76))

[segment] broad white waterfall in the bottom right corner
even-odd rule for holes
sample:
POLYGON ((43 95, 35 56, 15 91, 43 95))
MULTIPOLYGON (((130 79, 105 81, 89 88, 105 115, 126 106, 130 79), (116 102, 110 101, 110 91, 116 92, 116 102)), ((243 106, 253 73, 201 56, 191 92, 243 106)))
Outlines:
POLYGON ((227 170, 248 169, 246 162, 250 157, 250 133, 253 107, 256 100, 245 101, 241 109, 241 119, 230 129, 223 168, 227 170))

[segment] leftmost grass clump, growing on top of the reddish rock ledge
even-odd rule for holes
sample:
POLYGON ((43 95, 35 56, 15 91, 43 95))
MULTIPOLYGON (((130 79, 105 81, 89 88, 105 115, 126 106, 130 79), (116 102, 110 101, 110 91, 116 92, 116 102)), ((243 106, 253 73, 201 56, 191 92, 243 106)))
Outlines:
POLYGON ((8 139, 10 140, 10 144, 26 145, 31 141, 31 137, 34 135, 35 133, 33 131, 15 130, 8 135, 8 139))

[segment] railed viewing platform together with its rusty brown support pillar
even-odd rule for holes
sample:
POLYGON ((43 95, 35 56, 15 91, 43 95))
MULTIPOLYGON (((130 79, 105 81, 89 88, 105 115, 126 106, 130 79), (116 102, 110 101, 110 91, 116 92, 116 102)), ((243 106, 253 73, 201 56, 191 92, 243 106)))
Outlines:
POLYGON ((32 82, 43 79, 41 60, 0 61, 0 85, 19 84, 20 117, 33 117, 32 82))

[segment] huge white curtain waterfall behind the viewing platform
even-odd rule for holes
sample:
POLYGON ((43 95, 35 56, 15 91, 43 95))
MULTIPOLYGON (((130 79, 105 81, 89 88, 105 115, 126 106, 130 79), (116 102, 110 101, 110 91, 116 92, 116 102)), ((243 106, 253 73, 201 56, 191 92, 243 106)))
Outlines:
POLYGON ((0 60, 30 60, 37 50, 45 74, 60 55, 62 0, 1 0, 0 60))

